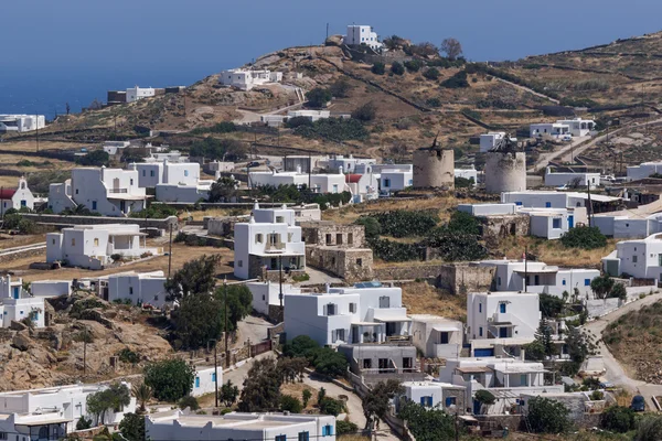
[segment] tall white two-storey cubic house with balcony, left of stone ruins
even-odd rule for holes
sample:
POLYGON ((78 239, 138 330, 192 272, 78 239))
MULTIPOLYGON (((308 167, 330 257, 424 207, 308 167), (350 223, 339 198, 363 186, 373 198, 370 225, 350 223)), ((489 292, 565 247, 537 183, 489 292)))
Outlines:
POLYGON ((295 211, 260 209, 256 203, 248 223, 235 224, 234 275, 254 279, 263 270, 306 269, 306 244, 301 227, 295 225, 295 211))

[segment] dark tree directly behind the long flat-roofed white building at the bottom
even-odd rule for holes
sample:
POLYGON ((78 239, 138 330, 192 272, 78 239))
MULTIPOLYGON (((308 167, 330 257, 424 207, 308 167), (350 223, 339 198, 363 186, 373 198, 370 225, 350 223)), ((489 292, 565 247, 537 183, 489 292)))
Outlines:
POLYGON ((242 412, 264 412, 280 407, 280 376, 274 358, 258 359, 244 380, 238 409, 242 412))

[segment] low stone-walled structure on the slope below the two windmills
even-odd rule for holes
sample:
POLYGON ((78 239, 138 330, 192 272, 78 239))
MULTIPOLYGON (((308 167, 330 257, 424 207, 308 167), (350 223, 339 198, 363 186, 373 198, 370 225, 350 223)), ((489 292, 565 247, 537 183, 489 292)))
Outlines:
POLYGON ((492 288, 496 267, 481 267, 476 263, 441 265, 436 280, 438 288, 453 294, 488 291, 492 288))

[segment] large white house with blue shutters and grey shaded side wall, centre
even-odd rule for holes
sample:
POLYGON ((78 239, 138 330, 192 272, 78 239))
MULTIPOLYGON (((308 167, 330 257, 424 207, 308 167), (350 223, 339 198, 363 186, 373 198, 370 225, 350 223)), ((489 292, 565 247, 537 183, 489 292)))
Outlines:
POLYGON ((408 340, 407 310, 399 288, 332 288, 325 293, 286 294, 288 340, 308 335, 320 345, 408 340))

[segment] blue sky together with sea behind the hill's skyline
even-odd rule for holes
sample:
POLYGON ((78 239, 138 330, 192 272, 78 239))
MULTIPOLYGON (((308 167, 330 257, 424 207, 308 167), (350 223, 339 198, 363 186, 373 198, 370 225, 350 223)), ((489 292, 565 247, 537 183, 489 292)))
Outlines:
POLYGON ((2 2, 0 112, 52 117, 106 90, 191 84, 348 23, 516 60, 662 28, 660 0, 20 0, 2 2), (248 6, 250 4, 250 6, 248 6))

